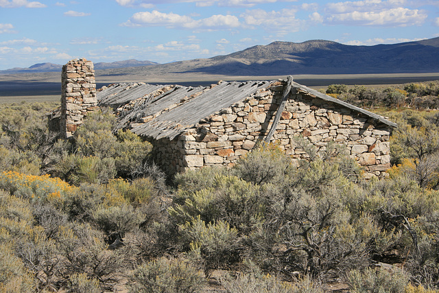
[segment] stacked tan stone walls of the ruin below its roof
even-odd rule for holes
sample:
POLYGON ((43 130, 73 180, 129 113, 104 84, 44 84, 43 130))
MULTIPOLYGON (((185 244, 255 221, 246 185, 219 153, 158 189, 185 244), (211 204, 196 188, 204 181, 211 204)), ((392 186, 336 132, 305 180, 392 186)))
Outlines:
MULTIPOLYGON (((262 141, 281 103, 283 82, 275 82, 237 104, 202 119, 174 140, 150 140, 156 161, 168 174, 206 165, 233 166, 262 141)), ((307 155, 295 141, 302 136, 318 152, 334 141, 365 167, 366 178, 382 176, 390 167, 390 127, 364 114, 318 97, 291 93, 272 142, 297 161, 307 155)))

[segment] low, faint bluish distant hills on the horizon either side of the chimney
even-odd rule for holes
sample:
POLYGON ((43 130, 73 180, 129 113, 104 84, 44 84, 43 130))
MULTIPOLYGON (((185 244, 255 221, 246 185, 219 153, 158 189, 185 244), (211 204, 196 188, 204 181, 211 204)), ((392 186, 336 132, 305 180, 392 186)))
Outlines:
MULTIPOLYGON (((139 61, 135 59, 116 61, 116 62, 97 62, 95 63, 95 70, 115 69, 124 67, 141 67, 147 65, 157 65, 158 63, 152 61, 139 61)), ((16 74, 16 73, 36 73, 36 72, 61 72, 62 65, 54 63, 37 63, 28 68, 12 68, 0 70, 0 74, 16 74)))

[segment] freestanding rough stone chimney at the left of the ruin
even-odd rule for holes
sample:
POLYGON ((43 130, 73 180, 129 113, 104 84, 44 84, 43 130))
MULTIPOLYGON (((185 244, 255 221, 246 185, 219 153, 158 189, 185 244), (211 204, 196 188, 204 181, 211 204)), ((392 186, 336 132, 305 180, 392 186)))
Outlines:
POLYGON ((73 59, 62 67, 60 131, 69 138, 83 122, 88 112, 99 109, 93 62, 73 59))

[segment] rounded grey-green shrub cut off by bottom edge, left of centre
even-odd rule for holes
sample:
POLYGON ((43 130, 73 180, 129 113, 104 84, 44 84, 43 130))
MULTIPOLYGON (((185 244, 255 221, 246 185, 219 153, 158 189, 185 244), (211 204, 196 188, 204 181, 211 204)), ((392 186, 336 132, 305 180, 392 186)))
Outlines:
POLYGON ((130 292, 202 292, 202 272, 185 259, 160 259, 139 266, 130 279, 130 292))

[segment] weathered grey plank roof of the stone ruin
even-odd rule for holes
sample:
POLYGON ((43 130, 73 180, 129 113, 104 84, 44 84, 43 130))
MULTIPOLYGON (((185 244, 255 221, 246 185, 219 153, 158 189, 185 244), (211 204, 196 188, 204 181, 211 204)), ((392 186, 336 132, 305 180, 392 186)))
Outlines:
MULTIPOLYGON (((154 139, 174 139, 192 128, 201 119, 218 113, 241 100, 265 89, 268 81, 219 82, 213 86, 152 85, 145 83, 112 84, 97 92, 100 106, 119 108, 118 128, 132 124, 132 132, 154 139), (143 121, 142 124, 134 124, 143 121)), ((324 95, 318 91, 292 82, 292 89, 339 104, 362 113, 388 126, 391 121, 362 108, 324 95)))

